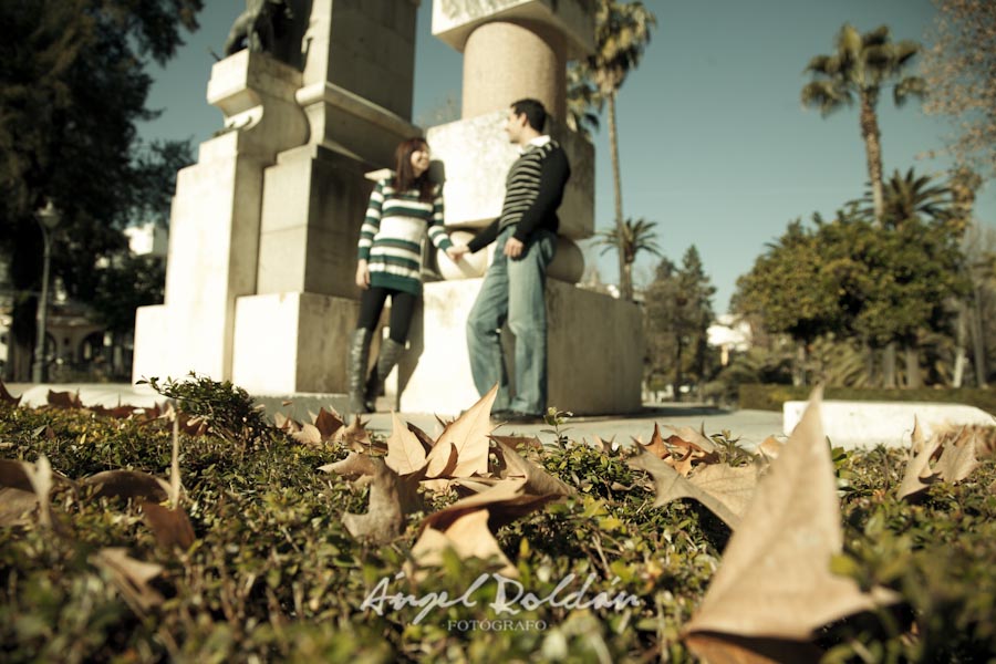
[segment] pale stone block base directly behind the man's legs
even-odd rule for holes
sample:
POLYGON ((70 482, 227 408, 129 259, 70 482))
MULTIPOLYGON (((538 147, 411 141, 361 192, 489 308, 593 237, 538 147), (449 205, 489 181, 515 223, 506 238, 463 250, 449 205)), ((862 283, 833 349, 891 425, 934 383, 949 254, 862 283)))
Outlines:
MULTIPOLYGON (((480 279, 425 284, 412 324, 408 352, 398 365, 398 407, 405 413, 456 415, 478 398, 467 360, 467 315, 480 279)), ((631 413, 641 407, 642 314, 636 304, 547 282, 547 404, 575 415, 631 413)), ((501 332, 506 357, 513 336, 501 332)), ((515 367, 509 363, 515 385, 515 367)))

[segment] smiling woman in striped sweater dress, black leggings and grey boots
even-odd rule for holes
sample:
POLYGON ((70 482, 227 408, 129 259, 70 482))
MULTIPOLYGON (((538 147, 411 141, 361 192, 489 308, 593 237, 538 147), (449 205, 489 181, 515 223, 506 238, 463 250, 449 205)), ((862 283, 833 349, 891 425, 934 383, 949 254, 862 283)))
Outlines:
POLYGON ((370 195, 360 229, 356 286, 360 320, 350 343, 350 409, 370 413, 383 394, 384 381, 397 364, 415 304, 422 297, 422 252, 425 237, 457 260, 459 252, 443 230, 443 188, 427 175, 429 149, 422 138, 409 138, 394 151, 394 175, 380 180, 370 195), (390 336, 364 383, 370 340, 384 302, 391 295, 390 336))

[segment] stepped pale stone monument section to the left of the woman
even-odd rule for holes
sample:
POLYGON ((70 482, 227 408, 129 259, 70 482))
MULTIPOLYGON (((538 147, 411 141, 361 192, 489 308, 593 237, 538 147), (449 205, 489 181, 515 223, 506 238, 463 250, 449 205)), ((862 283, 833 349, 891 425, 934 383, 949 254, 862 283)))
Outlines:
POLYGON ((253 394, 345 391, 364 173, 421 134, 417 0, 287 4, 273 53, 211 70, 225 128, 178 174, 166 301, 137 312, 135 380, 196 371, 253 394))

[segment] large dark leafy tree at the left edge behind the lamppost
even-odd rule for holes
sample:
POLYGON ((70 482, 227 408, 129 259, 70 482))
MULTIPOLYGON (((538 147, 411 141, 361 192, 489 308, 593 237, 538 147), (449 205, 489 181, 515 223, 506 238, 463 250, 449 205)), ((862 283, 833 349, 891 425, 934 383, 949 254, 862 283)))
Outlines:
POLYGON ((136 123, 155 116, 145 106, 152 82, 145 66, 175 53, 180 29, 196 29, 201 4, 0 3, 0 250, 18 293, 9 378, 24 380, 31 361, 41 272, 34 210, 46 200, 60 210, 53 277, 70 297, 90 301, 97 260, 122 251, 121 229, 168 196, 156 155, 184 148, 136 149, 136 123))

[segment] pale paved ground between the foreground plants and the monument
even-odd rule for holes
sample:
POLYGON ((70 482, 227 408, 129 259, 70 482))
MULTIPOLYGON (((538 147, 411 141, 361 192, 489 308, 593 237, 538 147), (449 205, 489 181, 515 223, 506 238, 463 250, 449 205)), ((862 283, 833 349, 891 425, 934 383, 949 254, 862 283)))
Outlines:
MULTIPOLYGON (((134 406, 148 406, 164 401, 162 396, 145 385, 128 384, 68 384, 68 385, 32 385, 27 383, 11 384, 7 386, 14 396, 22 396, 25 405, 42 405, 46 403, 49 390, 55 392, 79 392, 80 400, 85 405, 114 406, 131 404, 134 406)), ((260 403, 267 406, 267 413, 281 411, 297 419, 305 419, 308 413, 317 413, 319 407, 331 405, 338 409, 344 406, 345 397, 341 394, 298 394, 282 396, 258 397, 260 403), (291 404, 284 402, 291 401, 291 404)), ((469 404, 468 404, 469 405, 469 404)), ((387 433, 391 430, 391 414, 375 413, 365 416, 369 418, 367 429, 387 433)), ((403 413, 402 418, 411 422, 429 435, 440 430, 440 426, 433 414, 403 413)), ((665 426, 691 426, 704 429, 706 434, 717 434, 724 430, 732 436, 740 438, 741 445, 753 447, 770 435, 781 435, 781 413, 767 411, 723 411, 708 406, 693 404, 647 404, 643 411, 624 417, 572 417, 564 425, 568 437, 573 439, 585 438, 589 442, 599 436, 602 439, 615 438, 616 442, 629 442, 640 437, 649 440, 654 432, 654 424, 665 426)), ((511 435, 512 433, 536 435, 544 443, 552 442, 554 434, 549 432, 547 425, 502 425, 497 434, 511 435)), ((666 436, 666 433, 665 433, 666 436)))

